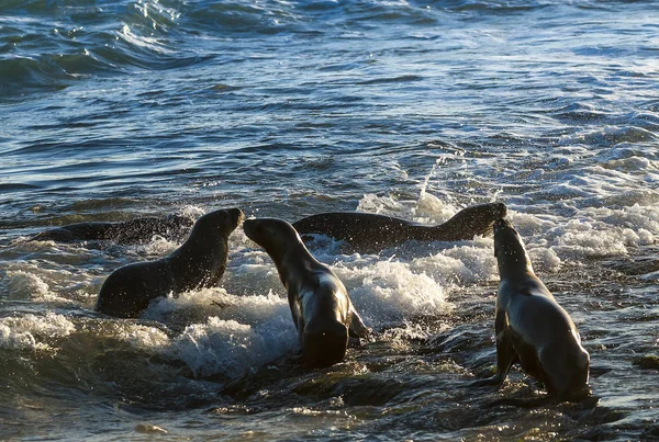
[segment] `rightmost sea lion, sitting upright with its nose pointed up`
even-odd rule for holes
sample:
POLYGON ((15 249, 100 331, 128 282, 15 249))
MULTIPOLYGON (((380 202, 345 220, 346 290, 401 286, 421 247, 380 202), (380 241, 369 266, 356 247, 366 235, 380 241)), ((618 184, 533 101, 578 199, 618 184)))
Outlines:
POLYGON ((570 315, 535 275, 524 242, 505 219, 494 223, 494 256, 501 282, 496 296, 496 374, 474 385, 501 387, 520 362, 559 399, 588 393, 590 355, 570 315))

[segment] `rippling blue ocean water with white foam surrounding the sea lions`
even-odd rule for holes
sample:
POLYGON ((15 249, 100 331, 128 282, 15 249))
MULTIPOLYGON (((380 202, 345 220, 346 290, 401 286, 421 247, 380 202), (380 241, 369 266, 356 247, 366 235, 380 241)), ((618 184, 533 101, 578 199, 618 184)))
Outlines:
POLYGON ((0 439, 659 439, 659 2, 0 0, 0 439), (241 207, 435 224, 501 201, 594 400, 495 365, 491 237, 310 250, 376 337, 304 370, 242 230, 221 286, 94 313, 178 243, 53 226, 241 207))

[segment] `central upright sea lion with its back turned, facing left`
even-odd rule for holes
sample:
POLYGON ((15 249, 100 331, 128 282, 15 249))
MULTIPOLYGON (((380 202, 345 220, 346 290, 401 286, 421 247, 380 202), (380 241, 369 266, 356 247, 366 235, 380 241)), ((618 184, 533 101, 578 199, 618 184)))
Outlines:
POLYGON ((282 219, 247 219, 243 230, 275 261, 288 291, 304 363, 328 366, 343 361, 348 335, 366 337, 369 329, 338 276, 306 250, 293 226, 282 219))

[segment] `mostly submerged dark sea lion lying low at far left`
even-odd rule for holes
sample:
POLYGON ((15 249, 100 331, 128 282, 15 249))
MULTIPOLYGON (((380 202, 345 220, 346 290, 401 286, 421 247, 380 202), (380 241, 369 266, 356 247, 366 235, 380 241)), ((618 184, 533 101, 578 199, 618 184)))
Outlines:
POLYGON ((75 223, 44 230, 30 240, 57 242, 112 240, 119 243, 134 243, 148 241, 154 235, 159 235, 168 240, 180 241, 188 235, 193 224, 194 219, 179 214, 169 214, 165 218, 145 217, 116 223, 75 223))

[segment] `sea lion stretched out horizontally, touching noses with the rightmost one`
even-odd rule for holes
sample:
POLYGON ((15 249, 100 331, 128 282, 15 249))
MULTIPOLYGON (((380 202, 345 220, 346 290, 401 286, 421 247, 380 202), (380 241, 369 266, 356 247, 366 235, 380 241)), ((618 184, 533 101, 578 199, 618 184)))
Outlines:
MULTIPOLYGON (((506 215, 503 203, 466 207, 446 223, 427 226, 392 216, 360 212, 330 212, 293 223, 299 234, 321 234, 344 240, 359 253, 377 253, 404 241, 459 241, 487 235, 506 215)), ((306 239, 306 238, 304 238, 306 239)))

